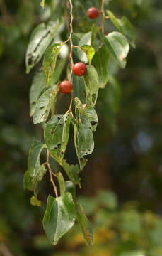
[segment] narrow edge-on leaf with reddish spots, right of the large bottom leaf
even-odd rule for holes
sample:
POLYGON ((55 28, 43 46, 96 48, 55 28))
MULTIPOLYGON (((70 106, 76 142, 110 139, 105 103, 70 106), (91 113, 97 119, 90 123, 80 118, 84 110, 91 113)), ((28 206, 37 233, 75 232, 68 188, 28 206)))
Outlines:
POLYGON ((78 220, 79 226, 83 233, 87 244, 92 248, 93 246, 93 230, 91 228, 91 223, 83 211, 83 207, 79 203, 75 203, 76 208, 76 219, 78 220))

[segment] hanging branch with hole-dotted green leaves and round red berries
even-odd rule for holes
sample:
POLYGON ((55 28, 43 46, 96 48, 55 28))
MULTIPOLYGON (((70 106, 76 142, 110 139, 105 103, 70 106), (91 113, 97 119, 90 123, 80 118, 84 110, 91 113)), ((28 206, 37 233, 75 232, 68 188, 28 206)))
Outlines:
MULTIPOLYGON (((81 15, 85 16, 88 27, 91 26, 90 31, 83 33, 83 30, 79 31, 81 26, 76 26, 74 30, 74 23, 79 22, 79 1, 64 0, 62 4, 59 1, 64 18, 52 16, 47 23, 40 23, 30 36, 26 52, 27 73, 42 60, 42 68, 40 65, 37 68, 30 88, 30 116, 33 116, 34 124, 42 123, 44 142, 35 141, 31 146, 24 188, 33 191, 30 203, 40 206, 37 185, 46 171, 49 172, 54 196, 47 198, 43 228, 53 245, 72 228, 75 220, 87 244, 90 247, 93 245, 91 224, 83 207, 75 201, 75 189, 76 186, 81 187, 79 172, 86 165, 86 156, 94 149, 93 132, 98 124, 95 105, 98 90, 103 90, 108 83, 110 60, 125 68, 129 44, 134 47, 132 24, 127 18, 118 19, 110 10, 106 10, 104 0, 99 2, 100 9, 92 6, 85 10, 85 6, 81 6, 81 11, 84 10, 81 15), (107 22, 112 22, 116 31, 108 33, 105 27, 107 22), (60 35, 64 27, 67 36, 62 41, 60 35), (69 48, 69 53, 62 58, 65 48, 69 48), (62 95, 65 95, 66 101, 71 98, 69 108, 57 114, 62 95), (76 165, 64 159, 70 127, 74 131, 76 165), (46 156, 44 162, 42 151, 46 156), (50 159, 62 166, 68 181, 65 181, 62 171, 56 173, 52 170, 50 159)), ((45 0, 42 0, 41 6, 44 8, 45 0)))

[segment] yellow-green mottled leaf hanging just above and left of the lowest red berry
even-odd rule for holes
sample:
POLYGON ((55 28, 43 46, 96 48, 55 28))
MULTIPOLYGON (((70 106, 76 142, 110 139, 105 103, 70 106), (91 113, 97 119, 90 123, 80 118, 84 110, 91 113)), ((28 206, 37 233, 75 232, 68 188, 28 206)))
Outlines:
POLYGON ((52 75, 54 73, 57 57, 59 55, 59 50, 62 48, 60 43, 54 43, 52 46, 49 46, 45 51, 45 56, 43 58, 43 69, 47 78, 47 85, 49 84, 52 75))

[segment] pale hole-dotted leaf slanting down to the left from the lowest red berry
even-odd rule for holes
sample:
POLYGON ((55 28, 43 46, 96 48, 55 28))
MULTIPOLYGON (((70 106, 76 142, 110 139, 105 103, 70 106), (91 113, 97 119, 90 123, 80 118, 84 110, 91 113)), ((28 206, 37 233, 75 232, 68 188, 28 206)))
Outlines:
POLYGON ((33 116, 34 124, 39 124, 40 122, 46 121, 50 112, 52 101, 56 98, 58 91, 59 87, 55 85, 54 87, 45 90, 45 92, 40 96, 39 100, 37 100, 33 116))

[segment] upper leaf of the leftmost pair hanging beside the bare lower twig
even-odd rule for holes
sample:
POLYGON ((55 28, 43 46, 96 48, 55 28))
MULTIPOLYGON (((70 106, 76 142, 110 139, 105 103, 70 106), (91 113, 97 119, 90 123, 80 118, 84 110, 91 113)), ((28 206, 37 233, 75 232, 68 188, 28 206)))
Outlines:
POLYGON ((40 153, 45 148, 45 144, 33 142, 28 157, 28 174, 33 178, 41 179, 44 175, 44 166, 40 165, 40 153))

